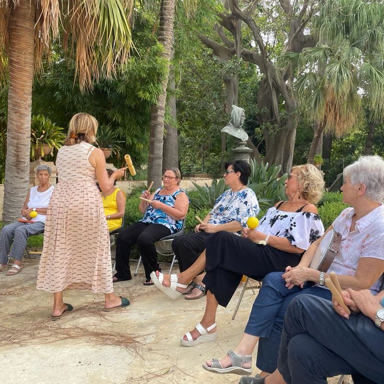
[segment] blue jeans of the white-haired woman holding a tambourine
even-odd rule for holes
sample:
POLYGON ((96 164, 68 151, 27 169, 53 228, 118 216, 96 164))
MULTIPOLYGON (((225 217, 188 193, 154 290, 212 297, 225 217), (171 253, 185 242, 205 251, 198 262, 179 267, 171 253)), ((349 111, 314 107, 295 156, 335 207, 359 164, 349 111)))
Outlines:
POLYGON ((282 274, 272 272, 264 277, 244 330, 245 333, 260 337, 256 365, 270 373, 277 366, 283 319, 292 299, 303 293, 331 299, 328 289, 312 286, 313 283, 305 283, 302 289, 298 286, 288 289, 282 274))

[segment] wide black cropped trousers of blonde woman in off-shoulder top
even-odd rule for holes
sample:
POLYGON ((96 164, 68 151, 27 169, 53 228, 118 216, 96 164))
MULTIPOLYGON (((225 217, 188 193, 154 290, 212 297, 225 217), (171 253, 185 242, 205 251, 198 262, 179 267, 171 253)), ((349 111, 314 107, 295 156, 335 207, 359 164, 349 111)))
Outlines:
POLYGON ((228 304, 243 274, 262 280, 270 272, 297 265, 301 258, 298 253, 259 245, 225 231, 212 233, 205 245, 206 274, 202 281, 222 306, 228 304))

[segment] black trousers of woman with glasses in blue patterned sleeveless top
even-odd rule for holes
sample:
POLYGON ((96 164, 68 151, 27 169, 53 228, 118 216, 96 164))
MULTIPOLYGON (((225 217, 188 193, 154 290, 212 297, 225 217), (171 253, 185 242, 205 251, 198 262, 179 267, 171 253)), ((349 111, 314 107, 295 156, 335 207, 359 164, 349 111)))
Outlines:
POLYGON ((122 280, 132 278, 129 269, 129 257, 132 245, 137 244, 145 270, 145 278, 150 272, 160 270, 154 243, 161 237, 170 234, 170 229, 161 224, 149 224, 137 221, 127 226, 117 235, 116 239, 116 273, 115 277, 122 280))

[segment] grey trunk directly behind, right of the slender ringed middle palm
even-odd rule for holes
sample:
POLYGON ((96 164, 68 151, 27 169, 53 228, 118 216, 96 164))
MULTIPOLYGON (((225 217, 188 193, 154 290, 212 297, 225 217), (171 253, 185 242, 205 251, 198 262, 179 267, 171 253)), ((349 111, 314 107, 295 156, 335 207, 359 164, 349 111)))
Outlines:
POLYGON ((164 135, 162 148, 162 170, 178 166, 178 141, 177 141, 177 120, 176 120, 176 96, 174 94, 174 72, 170 67, 168 81, 167 105, 170 112, 170 121, 165 124, 166 134, 164 135))

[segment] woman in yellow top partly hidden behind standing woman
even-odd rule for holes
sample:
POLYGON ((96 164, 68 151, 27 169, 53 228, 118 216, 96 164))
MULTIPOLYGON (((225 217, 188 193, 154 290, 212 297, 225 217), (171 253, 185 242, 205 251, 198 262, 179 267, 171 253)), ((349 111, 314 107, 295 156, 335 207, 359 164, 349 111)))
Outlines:
MULTIPOLYGON (((113 173, 113 170, 107 169, 106 172, 108 173, 108 176, 110 176, 113 173)), ((121 226, 122 217, 125 212, 125 193, 121 189, 116 188, 115 185, 116 180, 114 181, 112 188, 106 193, 101 192, 102 206, 104 207, 109 232, 121 226)))

